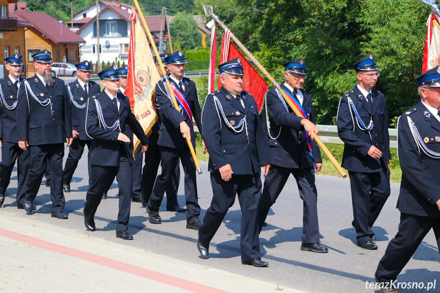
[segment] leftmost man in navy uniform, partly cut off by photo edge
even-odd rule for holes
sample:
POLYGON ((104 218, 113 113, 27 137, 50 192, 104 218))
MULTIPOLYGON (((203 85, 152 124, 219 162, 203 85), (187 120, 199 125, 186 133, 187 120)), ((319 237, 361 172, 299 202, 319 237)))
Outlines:
POLYGON ((17 208, 23 208, 24 191, 29 171, 29 150, 18 146, 17 138, 17 96, 22 82, 20 71, 23 65, 22 56, 15 54, 5 58, 8 76, 0 79, 0 146, 2 146, 2 162, 0 163, 0 206, 5 200, 5 193, 11 180, 12 169, 17 161, 18 189, 17 208))

